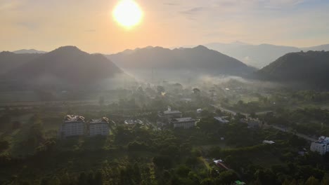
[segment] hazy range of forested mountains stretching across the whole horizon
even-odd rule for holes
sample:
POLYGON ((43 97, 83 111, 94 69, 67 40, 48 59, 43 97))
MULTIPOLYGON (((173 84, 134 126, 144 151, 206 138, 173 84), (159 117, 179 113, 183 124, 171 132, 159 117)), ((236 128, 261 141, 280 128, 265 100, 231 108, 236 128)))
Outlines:
MULTIPOLYGON (((249 47, 246 43, 234 45, 249 47)), ((280 46, 262 46, 263 50, 273 47, 283 52, 280 46)), ((120 79, 119 83, 124 83, 127 78, 131 79, 126 75, 127 72, 153 82, 190 81, 202 76, 243 76, 262 81, 302 84, 311 88, 329 88, 329 52, 324 51, 326 47, 304 48, 321 51, 284 54, 258 71, 205 46, 172 50, 161 47, 137 48, 106 57, 85 53, 75 46, 60 47, 49 53, 16 54, 6 51, 0 53, 0 83, 1 89, 37 85, 86 88, 99 86, 112 79, 120 79)))

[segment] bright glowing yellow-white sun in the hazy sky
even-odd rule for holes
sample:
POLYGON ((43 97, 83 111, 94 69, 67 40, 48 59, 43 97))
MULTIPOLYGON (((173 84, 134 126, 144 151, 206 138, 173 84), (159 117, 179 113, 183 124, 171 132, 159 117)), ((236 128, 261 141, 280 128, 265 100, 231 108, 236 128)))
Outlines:
POLYGON ((134 0, 121 0, 113 10, 113 18, 120 25, 130 28, 141 22, 143 12, 134 0))

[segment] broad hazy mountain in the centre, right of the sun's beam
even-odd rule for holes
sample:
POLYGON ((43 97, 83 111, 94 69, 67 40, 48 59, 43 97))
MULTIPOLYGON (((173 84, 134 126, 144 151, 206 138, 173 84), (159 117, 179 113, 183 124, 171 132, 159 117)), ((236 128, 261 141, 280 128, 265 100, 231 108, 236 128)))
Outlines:
POLYGON ((255 70, 233 57, 209 50, 205 46, 174 50, 149 46, 124 50, 122 53, 108 55, 108 58, 125 71, 131 71, 133 74, 138 70, 145 70, 148 74, 155 70, 159 77, 158 71, 162 71, 162 78, 181 74, 186 74, 185 77, 188 78, 202 74, 244 76, 255 70))

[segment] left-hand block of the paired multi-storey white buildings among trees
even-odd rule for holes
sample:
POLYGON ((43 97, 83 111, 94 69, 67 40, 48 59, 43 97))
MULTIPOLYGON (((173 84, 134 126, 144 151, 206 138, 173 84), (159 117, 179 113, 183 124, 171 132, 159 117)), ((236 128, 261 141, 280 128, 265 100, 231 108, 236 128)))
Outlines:
POLYGON ((65 116, 62 125, 58 131, 58 137, 65 138, 70 136, 81 136, 86 132, 84 117, 76 115, 65 116))

